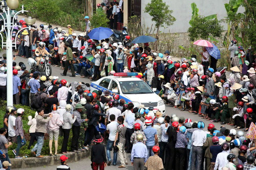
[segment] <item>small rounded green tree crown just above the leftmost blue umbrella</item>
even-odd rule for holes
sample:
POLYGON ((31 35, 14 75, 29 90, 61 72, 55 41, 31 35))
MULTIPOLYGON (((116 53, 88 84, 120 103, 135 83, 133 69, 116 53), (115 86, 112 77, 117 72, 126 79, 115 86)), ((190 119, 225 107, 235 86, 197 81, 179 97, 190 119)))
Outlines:
POLYGON ((103 11, 97 11, 93 14, 90 22, 92 29, 98 27, 109 27, 110 20, 106 17, 106 14, 103 11))

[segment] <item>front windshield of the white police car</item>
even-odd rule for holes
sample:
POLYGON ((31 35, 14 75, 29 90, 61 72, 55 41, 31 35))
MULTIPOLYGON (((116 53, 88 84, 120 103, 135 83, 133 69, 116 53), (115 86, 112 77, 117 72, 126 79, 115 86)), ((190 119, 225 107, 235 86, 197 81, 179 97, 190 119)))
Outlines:
POLYGON ((119 82, 123 94, 145 94, 154 93, 143 81, 119 82))

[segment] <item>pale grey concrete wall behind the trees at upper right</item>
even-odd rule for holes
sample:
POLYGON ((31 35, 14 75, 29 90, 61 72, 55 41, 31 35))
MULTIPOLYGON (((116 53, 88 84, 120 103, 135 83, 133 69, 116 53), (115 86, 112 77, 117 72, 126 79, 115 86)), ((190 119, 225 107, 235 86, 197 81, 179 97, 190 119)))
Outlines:
MULTIPOLYGON (((153 21, 151 20, 151 16, 147 13, 144 13, 144 9, 147 3, 150 3, 151 0, 143 0, 141 1, 141 18, 142 23, 146 23, 148 26, 151 26, 153 21)), ((189 20, 192 16, 191 3, 196 3, 197 8, 199 9, 199 14, 208 16, 211 14, 217 14, 218 19, 223 19, 226 17, 226 9, 224 4, 228 3, 229 0, 163 0, 167 5, 169 5, 170 9, 173 10, 173 16, 176 18, 173 26, 162 29, 160 31, 164 31, 168 33, 185 33, 187 29, 190 27, 189 20)), ((238 12, 243 12, 244 8, 240 7, 238 12)), ((224 30, 227 29, 226 23, 222 23, 224 26, 224 30)))

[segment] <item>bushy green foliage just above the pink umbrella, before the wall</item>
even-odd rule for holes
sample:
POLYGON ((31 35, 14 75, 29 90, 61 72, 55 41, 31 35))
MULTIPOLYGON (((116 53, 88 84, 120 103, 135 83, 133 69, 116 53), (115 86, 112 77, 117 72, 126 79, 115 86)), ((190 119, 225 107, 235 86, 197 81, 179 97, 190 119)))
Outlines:
POLYGON ((197 16, 191 21, 191 27, 188 28, 191 41, 202 38, 208 39, 209 36, 221 37, 223 27, 218 19, 206 19, 204 16, 197 16))

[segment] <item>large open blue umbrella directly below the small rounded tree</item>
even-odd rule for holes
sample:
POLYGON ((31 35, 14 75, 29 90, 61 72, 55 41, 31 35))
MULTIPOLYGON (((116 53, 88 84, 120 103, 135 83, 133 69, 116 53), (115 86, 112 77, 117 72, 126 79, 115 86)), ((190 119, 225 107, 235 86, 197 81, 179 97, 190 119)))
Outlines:
POLYGON ((102 40, 102 39, 109 38, 112 34, 113 34, 113 32, 111 31, 111 29, 104 28, 104 27, 99 27, 99 28, 93 29, 88 34, 88 36, 91 39, 102 40))

